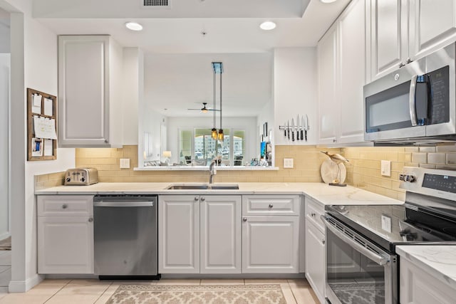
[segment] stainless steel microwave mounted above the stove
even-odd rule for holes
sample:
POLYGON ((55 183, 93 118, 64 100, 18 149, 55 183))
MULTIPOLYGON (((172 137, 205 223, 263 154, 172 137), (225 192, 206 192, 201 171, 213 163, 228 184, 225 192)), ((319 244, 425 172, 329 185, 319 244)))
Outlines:
POLYGON ((364 140, 456 140, 456 44, 365 85, 364 140))

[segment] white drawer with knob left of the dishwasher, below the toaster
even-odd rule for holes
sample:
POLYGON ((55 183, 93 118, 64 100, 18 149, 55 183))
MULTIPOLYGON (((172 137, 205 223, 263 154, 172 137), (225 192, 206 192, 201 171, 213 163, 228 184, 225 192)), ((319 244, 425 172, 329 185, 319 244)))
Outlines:
POLYGON ((93 215, 93 195, 38 195, 38 216, 93 215))

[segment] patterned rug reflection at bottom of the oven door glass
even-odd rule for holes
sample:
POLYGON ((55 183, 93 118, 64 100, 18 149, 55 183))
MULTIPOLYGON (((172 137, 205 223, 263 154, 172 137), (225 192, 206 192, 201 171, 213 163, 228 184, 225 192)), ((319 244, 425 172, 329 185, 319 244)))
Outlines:
POLYGON ((385 285, 382 283, 339 283, 330 284, 341 303, 375 304, 385 303, 385 285))

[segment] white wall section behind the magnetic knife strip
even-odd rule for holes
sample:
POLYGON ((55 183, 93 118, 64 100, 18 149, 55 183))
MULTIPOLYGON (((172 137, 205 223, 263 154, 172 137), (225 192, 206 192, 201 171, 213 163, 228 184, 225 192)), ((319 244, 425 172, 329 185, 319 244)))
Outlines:
MULTIPOLYGON (((316 145, 317 125, 316 48, 274 49, 274 135, 275 145, 316 145), (279 131, 279 125, 297 115, 308 115, 310 130, 307 142, 291 141, 279 131)), ((296 134, 295 134, 296 136, 296 134)))

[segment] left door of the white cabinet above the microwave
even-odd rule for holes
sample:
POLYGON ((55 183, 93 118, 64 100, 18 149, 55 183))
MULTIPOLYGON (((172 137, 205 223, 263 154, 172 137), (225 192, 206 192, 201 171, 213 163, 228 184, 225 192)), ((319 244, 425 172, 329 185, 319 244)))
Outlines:
POLYGON ((408 0, 372 0, 371 80, 400 67, 408 58, 408 0))

